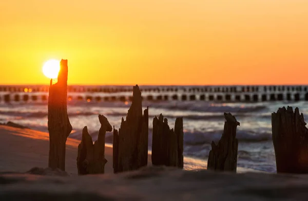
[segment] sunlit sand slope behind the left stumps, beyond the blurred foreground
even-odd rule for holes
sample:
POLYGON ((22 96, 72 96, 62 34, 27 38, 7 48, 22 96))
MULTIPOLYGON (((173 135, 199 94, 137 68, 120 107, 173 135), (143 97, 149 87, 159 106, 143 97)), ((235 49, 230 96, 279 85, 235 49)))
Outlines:
MULTIPOLYGON (((26 172, 33 167, 48 167, 49 135, 31 129, 0 125, 0 172, 26 172)), ((77 175, 76 157, 79 140, 67 138, 65 171, 77 175)), ((105 173, 113 173, 112 147, 106 145, 105 173)), ((150 164, 150 155, 148 157, 150 164)))

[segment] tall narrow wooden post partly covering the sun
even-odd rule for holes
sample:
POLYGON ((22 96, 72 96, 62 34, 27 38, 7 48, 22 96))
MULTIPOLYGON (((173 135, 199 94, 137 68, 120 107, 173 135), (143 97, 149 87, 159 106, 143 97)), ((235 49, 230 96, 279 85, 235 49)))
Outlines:
POLYGON ((61 60, 57 83, 50 80, 48 98, 49 163, 65 171, 65 143, 72 131, 67 116, 67 60, 61 60))

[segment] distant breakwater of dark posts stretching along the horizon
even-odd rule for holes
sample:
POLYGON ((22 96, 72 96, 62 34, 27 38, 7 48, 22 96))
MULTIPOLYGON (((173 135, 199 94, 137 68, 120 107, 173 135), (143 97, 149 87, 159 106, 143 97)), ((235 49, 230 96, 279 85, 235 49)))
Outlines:
MULTIPOLYGON (((0 102, 48 100, 47 85, 2 85, 0 102)), ((148 101, 308 101, 308 85, 140 86, 148 101)), ((131 86, 68 86, 68 101, 130 101, 131 86)))

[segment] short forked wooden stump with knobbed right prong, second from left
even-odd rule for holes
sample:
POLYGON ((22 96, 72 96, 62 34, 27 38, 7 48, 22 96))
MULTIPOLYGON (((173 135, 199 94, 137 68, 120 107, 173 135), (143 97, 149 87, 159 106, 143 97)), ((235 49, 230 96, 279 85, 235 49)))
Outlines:
POLYGON ((88 133, 87 126, 82 131, 82 140, 78 145, 77 167, 78 174, 104 174, 105 164, 105 136, 106 132, 111 132, 112 127, 106 117, 99 115, 101 128, 98 140, 92 141, 92 137, 88 133))

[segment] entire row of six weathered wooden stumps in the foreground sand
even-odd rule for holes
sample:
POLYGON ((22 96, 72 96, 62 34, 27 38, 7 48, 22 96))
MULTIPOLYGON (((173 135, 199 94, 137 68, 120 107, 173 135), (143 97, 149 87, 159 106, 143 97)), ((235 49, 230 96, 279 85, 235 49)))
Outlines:
MULTIPOLYGON (((67 60, 60 63, 56 84, 50 82, 48 98, 49 167, 65 170, 65 143, 72 131, 67 115, 67 60)), ((218 144, 211 143, 208 157, 209 170, 237 170, 238 139, 236 129, 240 123, 230 113, 224 113, 224 131, 218 144)), ((103 174, 105 170, 105 135, 112 131, 107 118, 99 115, 101 127, 98 140, 93 143, 87 126, 78 146, 78 174, 103 174)), ((272 135, 278 173, 308 173, 308 129, 303 114, 292 107, 279 108, 272 114, 272 135)), ((137 170, 148 162, 148 108, 142 109, 138 85, 133 87, 132 104, 126 119, 122 118, 119 131, 113 127, 114 173, 137 170)), ((183 169, 183 119, 177 118, 175 129, 161 114, 153 119, 152 165, 183 169)))

